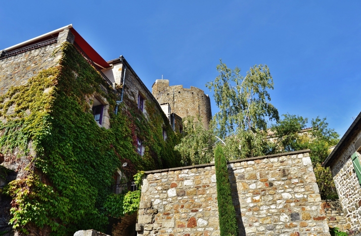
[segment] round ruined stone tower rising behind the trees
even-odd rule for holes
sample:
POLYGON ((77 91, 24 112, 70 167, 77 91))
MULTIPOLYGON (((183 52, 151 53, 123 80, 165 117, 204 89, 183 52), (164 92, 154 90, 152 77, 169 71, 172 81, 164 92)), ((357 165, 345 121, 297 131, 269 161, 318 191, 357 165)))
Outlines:
POLYGON ((169 80, 156 80, 152 94, 159 104, 169 103, 171 112, 181 118, 200 115, 204 128, 208 130, 212 118, 211 101, 204 91, 191 86, 184 89, 182 85, 169 86, 169 80))

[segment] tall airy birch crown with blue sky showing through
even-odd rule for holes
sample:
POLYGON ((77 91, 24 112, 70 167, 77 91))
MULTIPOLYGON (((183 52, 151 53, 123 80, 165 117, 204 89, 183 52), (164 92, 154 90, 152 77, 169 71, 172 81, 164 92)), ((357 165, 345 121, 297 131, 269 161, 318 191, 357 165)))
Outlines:
POLYGON ((266 130, 267 118, 278 120, 277 109, 267 90, 273 89, 273 79, 267 65, 255 65, 240 75, 240 69, 228 68, 220 60, 219 75, 206 86, 214 90, 214 98, 220 111, 213 118, 216 133, 226 138, 245 130, 266 130))

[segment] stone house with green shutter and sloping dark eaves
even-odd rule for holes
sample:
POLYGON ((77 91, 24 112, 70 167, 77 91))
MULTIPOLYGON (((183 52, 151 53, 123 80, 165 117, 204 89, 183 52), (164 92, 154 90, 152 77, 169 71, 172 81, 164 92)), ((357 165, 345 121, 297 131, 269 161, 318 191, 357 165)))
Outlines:
POLYGON ((326 158, 347 223, 339 228, 361 233, 361 113, 326 158))

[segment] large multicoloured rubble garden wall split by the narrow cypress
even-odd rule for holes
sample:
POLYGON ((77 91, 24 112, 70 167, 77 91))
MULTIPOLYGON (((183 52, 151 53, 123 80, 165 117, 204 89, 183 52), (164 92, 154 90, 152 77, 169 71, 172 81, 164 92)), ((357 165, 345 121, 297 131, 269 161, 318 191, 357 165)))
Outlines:
MULTIPOLYGON (((306 151, 228 162, 240 235, 328 236, 306 151)), ((213 164, 146 172, 138 235, 218 236, 213 164)))

